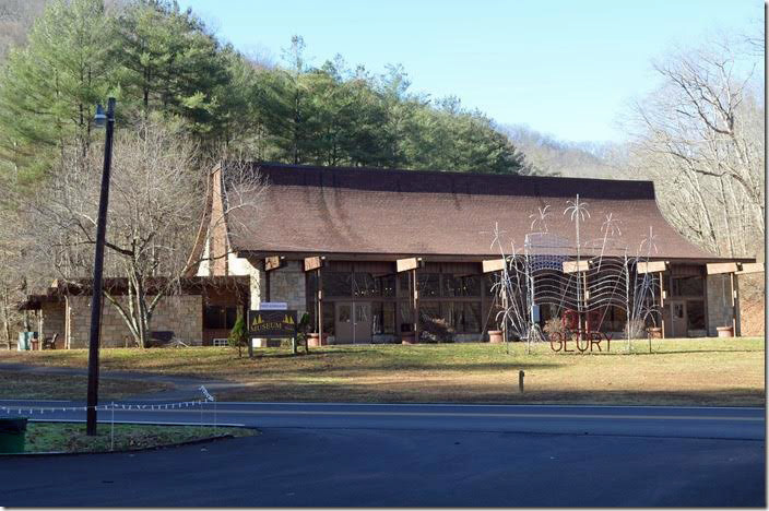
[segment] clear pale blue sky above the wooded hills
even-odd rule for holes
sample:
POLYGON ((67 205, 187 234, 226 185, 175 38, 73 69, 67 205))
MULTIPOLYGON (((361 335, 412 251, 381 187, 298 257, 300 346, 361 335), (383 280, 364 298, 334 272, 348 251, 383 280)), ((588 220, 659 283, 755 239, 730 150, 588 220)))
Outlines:
POLYGON ((320 66, 341 54, 413 92, 457 95, 501 123, 566 141, 620 141, 616 119, 654 87, 650 61, 673 45, 762 24, 759 0, 179 0, 238 49, 280 61, 294 34, 320 66))

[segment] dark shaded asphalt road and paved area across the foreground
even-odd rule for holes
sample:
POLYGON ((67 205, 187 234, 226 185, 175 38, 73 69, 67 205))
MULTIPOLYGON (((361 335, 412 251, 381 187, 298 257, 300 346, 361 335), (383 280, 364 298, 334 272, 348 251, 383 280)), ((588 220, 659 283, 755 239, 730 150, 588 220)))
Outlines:
MULTIPOLYGON (((204 421, 213 421, 209 406, 204 421)), ((200 415, 115 418, 199 423, 200 415)), ((0 504, 764 507, 764 408, 218 403, 218 424, 262 435, 9 457, 0 463, 0 504)))

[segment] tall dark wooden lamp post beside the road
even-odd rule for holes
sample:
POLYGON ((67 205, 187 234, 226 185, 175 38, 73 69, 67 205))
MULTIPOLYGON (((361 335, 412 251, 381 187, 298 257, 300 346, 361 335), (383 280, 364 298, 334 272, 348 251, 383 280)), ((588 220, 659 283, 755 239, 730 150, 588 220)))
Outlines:
POLYGON ((107 203, 109 202, 109 169, 113 163, 113 131, 115 129, 115 98, 107 100, 107 114, 102 105, 96 107, 94 123, 107 128, 104 142, 104 169, 98 198, 96 221, 96 251, 94 254, 94 282, 91 296, 91 332, 88 334, 88 397, 85 433, 96 435, 96 406, 98 405, 98 344, 102 326, 102 275, 104 273, 104 243, 107 234, 107 203))

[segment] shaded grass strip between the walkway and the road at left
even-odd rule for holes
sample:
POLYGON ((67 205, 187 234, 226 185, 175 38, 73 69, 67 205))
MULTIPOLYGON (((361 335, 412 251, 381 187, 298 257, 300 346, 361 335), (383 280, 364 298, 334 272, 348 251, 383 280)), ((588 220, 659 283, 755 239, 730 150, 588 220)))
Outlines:
MULTIPOLYGON (((0 399, 2 400, 71 400, 83 399, 87 389, 84 376, 26 375, 20 371, 0 372, 0 399)), ((149 381, 99 379, 99 397, 121 400, 145 392, 171 389, 165 383, 149 381)))

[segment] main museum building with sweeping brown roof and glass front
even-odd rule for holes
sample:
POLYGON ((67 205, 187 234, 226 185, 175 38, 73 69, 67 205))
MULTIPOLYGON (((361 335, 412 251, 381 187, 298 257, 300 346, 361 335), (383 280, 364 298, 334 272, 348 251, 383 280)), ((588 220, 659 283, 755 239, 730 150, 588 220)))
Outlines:
MULTIPOLYGON (((487 341, 501 328, 494 283, 502 252, 509 261, 548 209, 548 236, 573 239, 566 209, 575 198, 588 211, 582 240, 605 239, 604 218, 619 227, 612 243, 582 241, 581 254, 570 246, 561 257, 622 259, 650 242, 634 271, 656 278, 661 313, 651 321, 664 336, 726 326, 738 335, 738 275, 762 271, 755 259, 720 258, 684 239, 650 181, 252 163, 267 187, 251 190, 260 194, 255 206, 238 207, 233 201, 247 192, 227 177, 229 165, 242 171, 242 163, 224 162, 210 175, 197 275, 248 276, 251 309, 283 301, 307 311, 311 330, 332 344, 435 340, 431 321, 451 341, 487 341), (494 246, 495 236, 502 242, 494 246)), ((543 307, 537 320, 563 312, 543 307)), ((626 316, 607 307, 592 328, 622 335, 626 316)))

